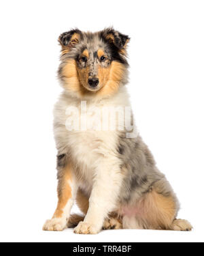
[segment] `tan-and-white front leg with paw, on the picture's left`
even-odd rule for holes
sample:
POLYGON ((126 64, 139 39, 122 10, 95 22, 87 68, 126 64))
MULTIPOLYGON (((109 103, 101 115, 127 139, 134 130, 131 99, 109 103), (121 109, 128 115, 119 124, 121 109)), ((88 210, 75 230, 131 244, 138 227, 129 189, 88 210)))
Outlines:
POLYGON ((58 203, 52 218, 44 224, 44 230, 61 231, 65 229, 76 190, 77 184, 71 165, 58 167, 58 203))

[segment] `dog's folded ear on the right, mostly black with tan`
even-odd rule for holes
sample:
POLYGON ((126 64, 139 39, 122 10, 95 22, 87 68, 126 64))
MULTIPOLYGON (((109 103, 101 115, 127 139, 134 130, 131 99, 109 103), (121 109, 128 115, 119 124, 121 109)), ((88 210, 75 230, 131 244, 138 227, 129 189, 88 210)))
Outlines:
POLYGON ((128 35, 124 35, 120 33, 119 31, 114 30, 113 28, 104 29, 101 31, 101 35, 105 40, 107 40, 109 43, 114 44, 120 53, 125 54, 126 53, 126 46, 130 40, 128 35))

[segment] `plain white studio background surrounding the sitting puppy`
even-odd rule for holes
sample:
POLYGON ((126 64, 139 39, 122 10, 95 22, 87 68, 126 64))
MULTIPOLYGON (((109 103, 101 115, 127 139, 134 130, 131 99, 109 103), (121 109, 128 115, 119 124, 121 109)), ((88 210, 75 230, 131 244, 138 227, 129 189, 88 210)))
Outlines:
MULTIPOLYGON (((201 242, 203 236, 203 1, 1 1, 0 240, 201 242), (56 207, 52 109, 58 35, 114 25, 131 37, 128 85, 137 126, 194 230, 42 231, 56 207)), ((74 210, 77 210, 76 208, 74 210)))

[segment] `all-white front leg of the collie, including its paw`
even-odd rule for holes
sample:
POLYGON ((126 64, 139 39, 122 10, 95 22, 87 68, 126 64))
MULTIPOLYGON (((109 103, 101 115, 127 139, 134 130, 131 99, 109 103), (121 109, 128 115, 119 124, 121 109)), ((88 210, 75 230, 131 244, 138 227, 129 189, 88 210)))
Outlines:
POLYGON ((99 233, 107 214, 116 207, 121 183, 122 174, 116 165, 107 169, 105 167, 97 169, 88 212, 84 221, 75 227, 75 233, 99 233))

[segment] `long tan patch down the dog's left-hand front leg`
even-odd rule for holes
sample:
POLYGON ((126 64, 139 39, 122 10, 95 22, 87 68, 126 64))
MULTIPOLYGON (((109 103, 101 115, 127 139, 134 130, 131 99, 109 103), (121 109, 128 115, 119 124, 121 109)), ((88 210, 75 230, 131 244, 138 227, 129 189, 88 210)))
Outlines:
POLYGON ((63 180, 61 180, 61 194, 58 195, 58 203, 54 215, 52 218, 61 218, 63 216, 63 210, 67 201, 72 197, 70 182, 72 180, 71 167, 67 165, 65 167, 63 180))

